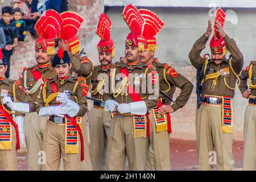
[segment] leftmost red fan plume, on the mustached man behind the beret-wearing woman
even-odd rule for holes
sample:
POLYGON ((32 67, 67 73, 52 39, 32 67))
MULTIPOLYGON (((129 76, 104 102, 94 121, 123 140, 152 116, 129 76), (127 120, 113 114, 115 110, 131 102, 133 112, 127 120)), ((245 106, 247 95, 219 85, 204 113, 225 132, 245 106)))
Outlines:
POLYGON ((35 24, 35 30, 42 39, 55 39, 63 29, 63 21, 55 10, 47 10, 35 24))

